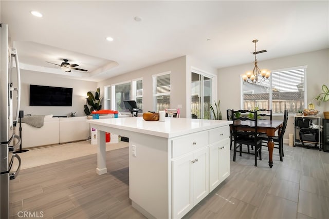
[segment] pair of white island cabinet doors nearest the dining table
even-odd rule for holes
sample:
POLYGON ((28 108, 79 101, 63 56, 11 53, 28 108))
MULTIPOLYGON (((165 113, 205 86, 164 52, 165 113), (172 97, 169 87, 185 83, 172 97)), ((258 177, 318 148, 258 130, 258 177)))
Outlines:
POLYGON ((209 192, 220 185, 230 174, 230 140, 209 145, 209 192))

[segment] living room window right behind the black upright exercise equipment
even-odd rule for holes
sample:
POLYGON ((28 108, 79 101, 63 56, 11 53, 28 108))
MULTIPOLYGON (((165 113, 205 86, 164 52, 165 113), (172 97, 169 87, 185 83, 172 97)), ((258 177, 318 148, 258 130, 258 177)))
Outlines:
POLYGON ((125 109, 123 101, 131 99, 131 83, 122 83, 112 86, 112 99, 115 110, 119 112, 129 112, 125 109), (114 95, 114 96, 113 96, 114 95))

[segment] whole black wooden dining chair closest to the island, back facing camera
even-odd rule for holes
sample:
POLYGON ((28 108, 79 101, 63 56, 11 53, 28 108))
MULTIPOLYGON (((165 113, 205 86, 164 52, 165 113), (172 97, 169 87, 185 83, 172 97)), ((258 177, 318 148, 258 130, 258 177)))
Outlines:
POLYGON ((259 155, 259 160, 262 160, 262 140, 258 138, 257 133, 257 111, 249 111, 249 110, 232 110, 232 115, 234 113, 240 112, 241 114, 248 113, 253 114, 253 116, 246 116, 246 117, 239 117, 235 118, 232 116, 232 133, 233 133, 233 142, 234 142, 234 149, 233 149, 233 161, 236 158, 236 151, 240 149, 240 156, 242 153, 250 153, 243 152, 242 147, 246 145, 247 147, 253 146, 254 147, 254 156, 255 156, 255 164, 254 166, 257 167, 257 156, 259 155), (248 131, 245 131, 248 130, 248 131))

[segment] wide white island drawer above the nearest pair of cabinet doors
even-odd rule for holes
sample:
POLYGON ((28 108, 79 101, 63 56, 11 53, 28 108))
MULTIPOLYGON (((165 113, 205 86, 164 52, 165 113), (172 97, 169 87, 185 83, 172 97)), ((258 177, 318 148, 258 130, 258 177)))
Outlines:
POLYGON ((172 158, 208 145, 208 132, 199 132, 179 137, 171 142, 172 158))

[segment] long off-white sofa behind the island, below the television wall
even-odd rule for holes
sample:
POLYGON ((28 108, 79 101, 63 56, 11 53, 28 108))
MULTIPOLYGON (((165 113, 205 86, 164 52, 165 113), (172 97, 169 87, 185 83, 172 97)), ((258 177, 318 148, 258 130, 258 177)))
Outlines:
MULTIPOLYGON (((129 115, 119 115, 128 117, 129 115)), ((113 118, 114 115, 100 115, 102 118, 113 118)), ((90 116, 89 116, 90 118, 90 116)), ((22 123, 22 148, 38 147, 44 145, 63 144, 86 140, 90 137, 90 125, 86 122, 87 116, 52 117, 45 115, 43 126, 36 128, 22 123)), ((15 127, 18 134, 19 125, 15 127)))

